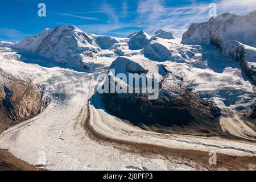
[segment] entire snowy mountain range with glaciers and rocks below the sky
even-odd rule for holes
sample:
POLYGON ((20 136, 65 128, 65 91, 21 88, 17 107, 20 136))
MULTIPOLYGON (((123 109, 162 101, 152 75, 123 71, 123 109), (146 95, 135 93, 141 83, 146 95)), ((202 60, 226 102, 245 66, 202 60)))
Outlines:
POLYGON ((47 169, 207 169, 136 152, 119 155, 114 144, 134 151, 149 144, 214 150, 255 160, 255 23, 256 10, 193 23, 182 39, 162 29, 152 36, 141 30, 113 38, 65 25, 0 42, 0 116, 8 118, 4 127, 23 121, 0 135, 0 148, 35 165, 38 151, 46 151, 47 169), (134 86, 113 69, 155 74, 158 99, 98 93, 101 73, 115 84, 134 86))

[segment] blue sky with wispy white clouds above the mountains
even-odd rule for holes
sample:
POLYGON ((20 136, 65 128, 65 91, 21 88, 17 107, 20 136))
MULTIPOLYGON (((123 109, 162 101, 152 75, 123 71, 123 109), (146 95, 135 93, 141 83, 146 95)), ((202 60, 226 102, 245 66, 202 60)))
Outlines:
POLYGON ((216 3, 217 15, 256 9, 255 0, 9 0, 0 2, 0 40, 19 41, 63 24, 115 37, 142 29, 154 34, 159 28, 181 37, 189 24, 209 19, 209 3, 216 3), (46 17, 38 16, 40 2, 46 4, 46 17))

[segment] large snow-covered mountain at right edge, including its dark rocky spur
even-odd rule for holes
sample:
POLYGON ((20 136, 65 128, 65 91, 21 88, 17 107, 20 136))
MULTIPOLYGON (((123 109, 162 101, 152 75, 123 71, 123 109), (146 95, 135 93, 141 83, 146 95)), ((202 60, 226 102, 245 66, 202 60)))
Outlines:
POLYGON ((247 76, 256 82, 256 10, 246 16, 229 13, 208 22, 193 23, 182 43, 213 45, 232 59, 241 61, 247 76))

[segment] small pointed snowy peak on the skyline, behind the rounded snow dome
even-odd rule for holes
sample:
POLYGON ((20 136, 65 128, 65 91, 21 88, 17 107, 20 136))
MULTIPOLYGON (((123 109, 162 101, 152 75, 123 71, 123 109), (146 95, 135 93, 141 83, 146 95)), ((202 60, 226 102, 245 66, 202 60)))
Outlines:
POLYGON ((137 50, 142 49, 150 41, 150 36, 143 30, 136 34, 130 35, 130 40, 128 41, 129 49, 137 50))

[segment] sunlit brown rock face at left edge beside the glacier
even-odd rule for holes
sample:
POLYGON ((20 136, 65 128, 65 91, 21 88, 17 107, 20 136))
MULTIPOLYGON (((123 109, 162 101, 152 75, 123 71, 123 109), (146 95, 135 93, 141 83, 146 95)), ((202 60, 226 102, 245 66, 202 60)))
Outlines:
POLYGON ((0 69, 0 107, 13 121, 42 112, 45 108, 36 85, 19 80, 0 69))

